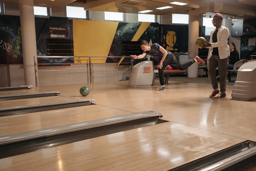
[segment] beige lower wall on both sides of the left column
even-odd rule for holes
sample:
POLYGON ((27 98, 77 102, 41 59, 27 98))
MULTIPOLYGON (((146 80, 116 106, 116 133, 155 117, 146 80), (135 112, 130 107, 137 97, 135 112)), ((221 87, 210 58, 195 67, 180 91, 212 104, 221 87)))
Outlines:
MULTIPOLYGON (((0 65, 0 87, 25 85, 23 65, 0 65)), ((126 80, 131 66, 117 66, 117 63, 91 64, 92 82, 126 80)), ((71 66, 38 67, 38 85, 65 85, 90 82, 89 64, 71 63, 71 66)))

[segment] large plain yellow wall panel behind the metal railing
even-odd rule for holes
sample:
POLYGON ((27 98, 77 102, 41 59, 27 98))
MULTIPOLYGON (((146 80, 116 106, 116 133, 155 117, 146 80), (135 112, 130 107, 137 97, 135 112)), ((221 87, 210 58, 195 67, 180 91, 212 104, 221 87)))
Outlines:
MULTIPOLYGON (((118 22, 73 20, 74 56, 108 56, 118 22)), ((88 58, 75 58, 74 63, 88 63, 88 58)), ((91 58, 92 63, 105 63, 106 57, 91 58)))

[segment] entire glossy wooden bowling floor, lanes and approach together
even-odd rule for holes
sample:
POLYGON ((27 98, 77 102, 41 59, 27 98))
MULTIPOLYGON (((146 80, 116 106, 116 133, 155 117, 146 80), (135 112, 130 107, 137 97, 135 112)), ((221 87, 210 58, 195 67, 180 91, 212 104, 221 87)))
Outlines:
POLYGON ((128 81, 44 86, 9 93, 54 90, 60 95, 0 101, 0 106, 82 100, 82 86, 89 87, 86 98, 96 99, 95 105, 2 116, 0 136, 142 111, 158 112, 165 122, 58 146, 49 144, 38 151, 1 158, 0 170, 171 170, 247 140, 256 141, 256 101, 231 100, 233 86, 227 86, 227 97, 222 99, 209 98, 210 84, 174 81, 164 91, 156 91, 158 80, 154 86, 137 88, 128 87, 128 81))

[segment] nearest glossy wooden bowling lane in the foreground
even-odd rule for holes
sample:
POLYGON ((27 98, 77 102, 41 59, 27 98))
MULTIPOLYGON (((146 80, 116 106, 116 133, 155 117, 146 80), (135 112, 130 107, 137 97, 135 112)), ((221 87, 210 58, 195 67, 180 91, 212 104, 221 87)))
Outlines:
POLYGON ((168 170, 243 141, 168 122, 0 159, 0 170, 168 170))

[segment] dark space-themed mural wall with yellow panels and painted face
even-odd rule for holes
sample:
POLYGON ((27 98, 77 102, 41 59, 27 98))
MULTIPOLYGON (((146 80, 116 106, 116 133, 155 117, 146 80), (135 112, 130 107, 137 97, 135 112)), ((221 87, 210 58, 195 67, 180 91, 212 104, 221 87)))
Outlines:
MULTIPOLYGON (((0 63, 23 63, 19 16, 0 15, 0 63), (11 22, 10 22, 11 21, 11 22)), ((201 29, 200 29, 201 30, 201 29)), ((122 41, 159 43, 171 52, 188 51, 188 26, 35 17, 38 63, 88 63, 87 56, 120 56, 122 41), (72 41, 76 58, 47 58, 50 40, 72 41), (79 57, 81 56, 81 57, 79 57)), ((200 34, 204 34, 201 33, 200 34)), ((56 43, 58 44, 58 43, 56 43)), ((64 51, 64 49, 63 49, 64 51)), ((142 51, 141 51, 142 53, 142 51)), ((69 55, 66 55, 69 56, 69 55)), ((92 58, 93 63, 128 63, 129 58, 92 58)))

